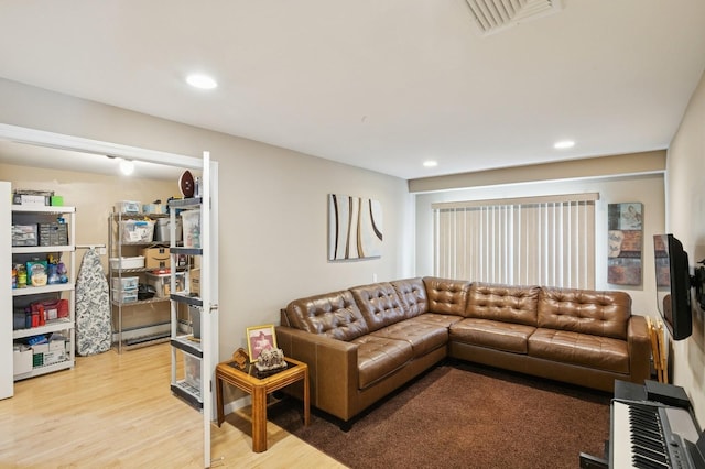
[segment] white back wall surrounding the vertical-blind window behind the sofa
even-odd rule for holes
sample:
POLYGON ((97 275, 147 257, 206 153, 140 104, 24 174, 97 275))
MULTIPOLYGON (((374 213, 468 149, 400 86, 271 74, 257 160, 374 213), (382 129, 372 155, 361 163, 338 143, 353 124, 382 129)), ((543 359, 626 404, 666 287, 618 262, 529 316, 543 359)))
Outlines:
POLYGON ((599 193, 599 200, 595 206, 596 288, 629 292, 633 301, 632 312, 634 314, 657 317, 659 313, 655 302, 652 237, 664 230, 664 188, 662 174, 601 179, 527 183, 417 194, 416 274, 433 274, 433 212, 431 210, 431 204, 436 201, 482 200, 578 193, 599 193), (607 205, 629 201, 640 201, 643 204, 644 246, 642 251, 642 282, 640 286, 611 285, 607 283, 607 205))

